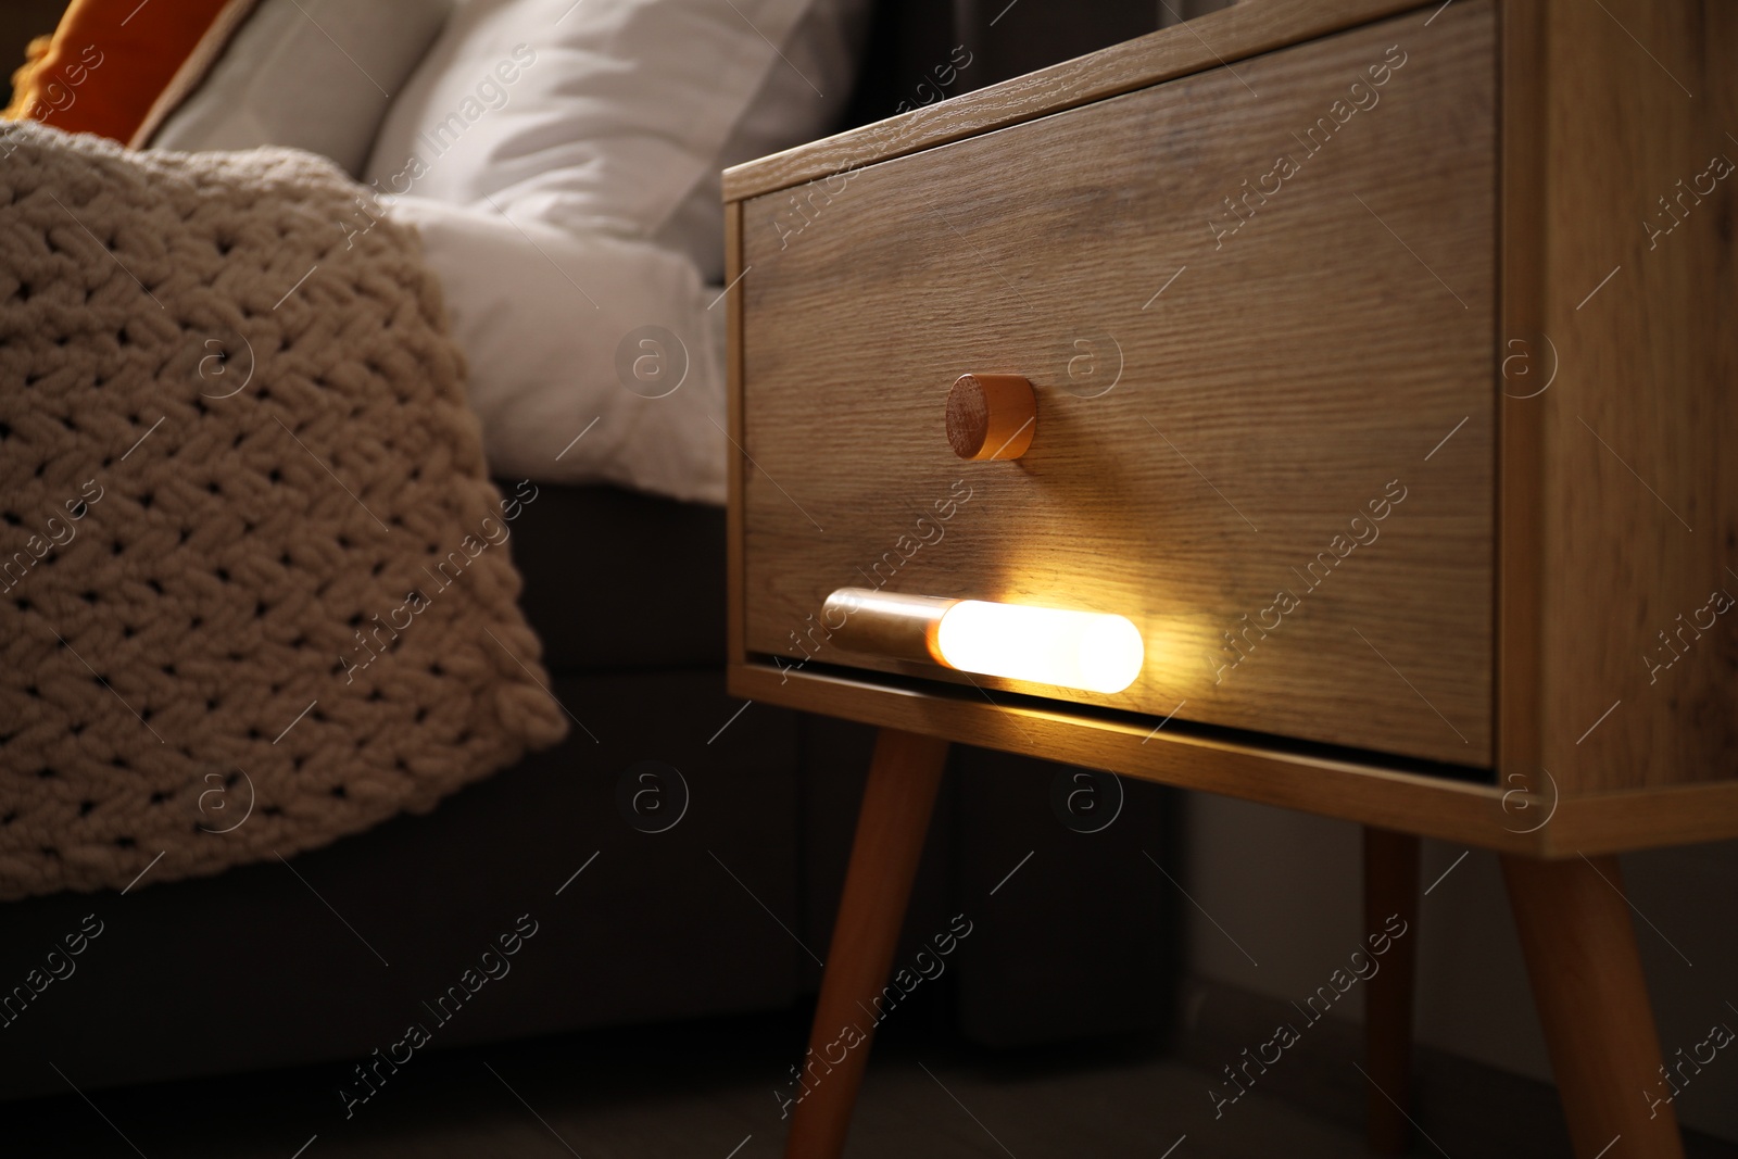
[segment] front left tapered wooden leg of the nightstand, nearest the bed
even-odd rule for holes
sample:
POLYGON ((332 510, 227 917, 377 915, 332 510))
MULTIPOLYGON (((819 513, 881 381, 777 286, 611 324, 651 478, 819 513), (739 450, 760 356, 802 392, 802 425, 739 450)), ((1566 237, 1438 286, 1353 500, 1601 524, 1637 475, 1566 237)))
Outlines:
POLYGON ((845 893, 808 1036, 787 1159, 836 1159, 869 1062, 874 997, 886 985, 923 857, 947 742, 883 728, 869 763, 845 893), (857 1034, 845 1034, 852 1027, 857 1034), (846 1046, 846 1043, 850 1046, 846 1046), (843 1060, 839 1058, 843 1051, 843 1060))

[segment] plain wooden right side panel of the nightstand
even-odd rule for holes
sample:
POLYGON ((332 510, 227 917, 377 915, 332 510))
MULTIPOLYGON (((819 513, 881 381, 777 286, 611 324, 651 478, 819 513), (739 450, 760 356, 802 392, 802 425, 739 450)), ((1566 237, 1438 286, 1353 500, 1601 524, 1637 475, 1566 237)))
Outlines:
POLYGON ((1505 546, 1540 558, 1538 763, 1566 792, 1731 778, 1738 172, 1710 162, 1738 163, 1738 9, 1545 10, 1557 381, 1505 403, 1545 426, 1540 537, 1505 546))

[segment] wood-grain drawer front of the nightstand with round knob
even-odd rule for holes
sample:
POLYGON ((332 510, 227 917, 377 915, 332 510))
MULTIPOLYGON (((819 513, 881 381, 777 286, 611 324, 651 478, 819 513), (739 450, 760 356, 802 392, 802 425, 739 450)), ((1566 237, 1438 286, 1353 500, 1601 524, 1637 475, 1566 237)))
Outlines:
POLYGON ((1456 3, 744 202, 744 650, 958 681, 829 593, 1114 612, 1124 692, 970 679, 1489 765, 1495 103, 1456 3))

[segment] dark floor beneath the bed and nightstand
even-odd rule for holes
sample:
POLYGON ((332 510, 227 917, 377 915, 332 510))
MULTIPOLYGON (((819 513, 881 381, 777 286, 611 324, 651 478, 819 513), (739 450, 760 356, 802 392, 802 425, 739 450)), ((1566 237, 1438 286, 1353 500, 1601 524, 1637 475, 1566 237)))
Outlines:
MULTIPOLYGON (((1302 1086, 1250 1089, 1215 1119, 1208 1070, 1175 1050, 1121 1041, 989 1053, 944 1025, 935 1018, 878 1044, 848 1159, 1363 1154, 1356 1084, 1300 1076, 1302 1086)), ((349 1119, 332 1067, 70 1091, 0 1112, 3 1150, 31 1159, 773 1159, 784 1140, 779 1098, 801 1037, 793 1011, 429 1053, 349 1119)), ((1568 1156, 1547 1088, 1458 1067, 1422 1065, 1416 1114, 1429 1138, 1411 1154, 1568 1156), (1476 1089, 1481 1083, 1489 1089, 1476 1089), (1448 1098, 1451 1110, 1436 1110, 1446 1086, 1462 1089, 1448 1098)), ((1738 1147, 1691 1136, 1688 1154, 1731 1159, 1738 1147)))

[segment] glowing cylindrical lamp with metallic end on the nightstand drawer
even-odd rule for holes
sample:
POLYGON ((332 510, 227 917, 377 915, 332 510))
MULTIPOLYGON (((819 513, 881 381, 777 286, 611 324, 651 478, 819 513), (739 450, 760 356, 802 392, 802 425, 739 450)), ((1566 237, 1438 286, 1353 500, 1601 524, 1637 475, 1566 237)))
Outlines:
MULTIPOLYGON (((833 593, 827 613, 845 617, 838 629, 845 648, 921 655, 961 672, 1058 688, 1123 692, 1145 662, 1140 629, 1121 615, 864 587, 833 593)), ((829 627, 834 619, 827 619, 829 627)))

